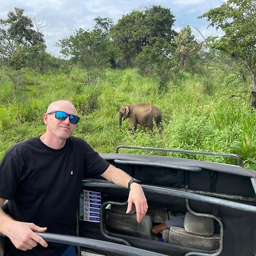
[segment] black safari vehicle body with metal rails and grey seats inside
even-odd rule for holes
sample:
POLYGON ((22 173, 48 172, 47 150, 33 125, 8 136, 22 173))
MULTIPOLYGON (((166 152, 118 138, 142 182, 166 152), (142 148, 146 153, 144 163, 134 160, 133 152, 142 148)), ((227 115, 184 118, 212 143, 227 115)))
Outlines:
POLYGON ((255 254, 253 171, 165 156, 102 156, 142 181, 148 211, 138 223, 135 208, 126 214, 128 189, 101 179, 85 180, 83 191, 101 195, 101 218, 80 220, 80 236, 173 256, 255 254), (184 216, 184 226, 152 234, 153 226, 177 216, 184 216))

